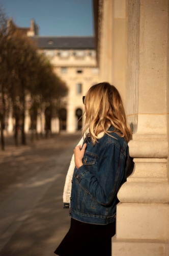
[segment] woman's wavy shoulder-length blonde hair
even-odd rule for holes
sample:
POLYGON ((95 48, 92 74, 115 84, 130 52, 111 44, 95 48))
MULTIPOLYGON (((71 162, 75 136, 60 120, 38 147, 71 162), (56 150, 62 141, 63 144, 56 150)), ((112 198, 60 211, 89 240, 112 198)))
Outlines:
POLYGON ((132 133, 127 123, 123 101, 116 87, 108 82, 95 84, 87 92, 84 103, 86 121, 83 138, 90 133, 94 145, 98 142, 98 134, 101 132, 109 136, 110 133, 117 133, 127 141, 131 139, 132 133), (113 126, 114 131, 107 131, 108 126, 113 126))

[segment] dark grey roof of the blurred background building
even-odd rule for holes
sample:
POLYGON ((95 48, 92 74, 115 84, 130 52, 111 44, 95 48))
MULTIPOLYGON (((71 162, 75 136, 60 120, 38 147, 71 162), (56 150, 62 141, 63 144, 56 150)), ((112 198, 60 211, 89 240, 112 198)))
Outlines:
POLYGON ((94 36, 33 36, 41 49, 95 49, 94 36))

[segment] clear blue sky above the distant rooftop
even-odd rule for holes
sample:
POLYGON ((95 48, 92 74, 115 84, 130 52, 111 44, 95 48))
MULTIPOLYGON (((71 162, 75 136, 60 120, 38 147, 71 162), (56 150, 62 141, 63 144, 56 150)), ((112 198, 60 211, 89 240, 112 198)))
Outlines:
POLYGON ((40 35, 93 35, 92 0, 0 0, 19 27, 39 25, 40 35))

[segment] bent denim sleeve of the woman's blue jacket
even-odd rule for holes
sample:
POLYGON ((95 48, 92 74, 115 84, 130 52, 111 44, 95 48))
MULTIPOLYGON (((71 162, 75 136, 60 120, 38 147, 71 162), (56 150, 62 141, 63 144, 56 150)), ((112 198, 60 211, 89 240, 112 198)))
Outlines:
POLYGON ((124 155, 115 143, 106 143, 99 152, 95 175, 91 174, 89 165, 80 166, 75 172, 76 181, 96 201, 109 205, 115 197, 125 175, 124 155))

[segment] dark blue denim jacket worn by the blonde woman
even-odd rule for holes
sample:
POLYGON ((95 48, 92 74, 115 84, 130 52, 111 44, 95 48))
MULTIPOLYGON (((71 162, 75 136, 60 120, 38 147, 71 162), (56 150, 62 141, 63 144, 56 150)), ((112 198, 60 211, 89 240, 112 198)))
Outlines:
MULTIPOLYGON (((108 131, 113 131, 112 126, 108 131)), ((116 133, 105 134, 93 146, 86 138, 83 165, 75 167, 69 216, 86 223, 106 225, 116 219, 117 193, 126 181, 128 143, 116 133)))

